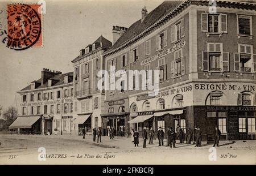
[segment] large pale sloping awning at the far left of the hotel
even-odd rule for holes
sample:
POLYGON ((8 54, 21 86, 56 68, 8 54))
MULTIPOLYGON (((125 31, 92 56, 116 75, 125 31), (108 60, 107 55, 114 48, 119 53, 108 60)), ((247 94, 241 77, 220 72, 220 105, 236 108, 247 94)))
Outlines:
POLYGON ((9 128, 31 128, 40 116, 18 117, 9 128))

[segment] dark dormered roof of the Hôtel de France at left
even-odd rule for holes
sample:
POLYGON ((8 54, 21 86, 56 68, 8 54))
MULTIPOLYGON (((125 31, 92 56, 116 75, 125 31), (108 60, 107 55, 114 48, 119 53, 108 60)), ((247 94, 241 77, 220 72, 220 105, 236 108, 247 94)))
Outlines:
MULTIPOLYGON (((72 76, 72 79, 73 79, 73 71, 65 73, 65 74, 57 74, 55 76, 52 76, 52 78, 49 78, 49 79, 57 80, 57 83, 54 84, 53 86, 61 85, 61 84, 64 84, 64 77, 65 76, 72 76)), ((36 82, 37 83, 41 83, 41 78, 39 80, 37 80, 36 82)), ((40 85, 39 87, 36 87, 35 89, 47 88, 47 87, 48 87, 48 82, 44 83, 43 85, 40 85)), ((21 89, 20 91, 28 91, 28 90, 31 90, 30 85, 28 85, 27 87, 21 89)))

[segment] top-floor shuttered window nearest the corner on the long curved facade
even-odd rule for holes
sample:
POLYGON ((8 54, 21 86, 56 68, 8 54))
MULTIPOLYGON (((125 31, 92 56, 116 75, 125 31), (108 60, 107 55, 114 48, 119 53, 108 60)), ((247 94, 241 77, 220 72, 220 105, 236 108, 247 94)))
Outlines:
POLYGON ((171 42, 179 41, 182 37, 185 36, 185 29, 184 29, 184 19, 181 19, 175 25, 171 27, 171 42))

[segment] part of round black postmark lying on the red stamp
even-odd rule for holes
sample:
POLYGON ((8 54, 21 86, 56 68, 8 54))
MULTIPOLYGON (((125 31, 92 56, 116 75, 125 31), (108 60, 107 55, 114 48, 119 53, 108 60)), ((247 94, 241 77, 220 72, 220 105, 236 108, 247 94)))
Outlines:
POLYGON ((7 6, 7 47, 24 50, 35 45, 42 31, 41 19, 29 5, 7 6))

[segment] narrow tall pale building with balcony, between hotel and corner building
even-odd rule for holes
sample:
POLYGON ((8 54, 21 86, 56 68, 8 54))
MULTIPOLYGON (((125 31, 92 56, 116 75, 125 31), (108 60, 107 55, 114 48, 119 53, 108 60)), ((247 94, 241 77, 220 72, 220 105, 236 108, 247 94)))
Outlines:
POLYGON ((104 111, 105 91, 98 88, 98 71, 105 69, 103 53, 112 42, 100 36, 93 44, 80 50, 73 59, 74 65, 74 126, 80 134, 82 127, 90 132, 94 127, 102 127, 101 115, 104 111))

